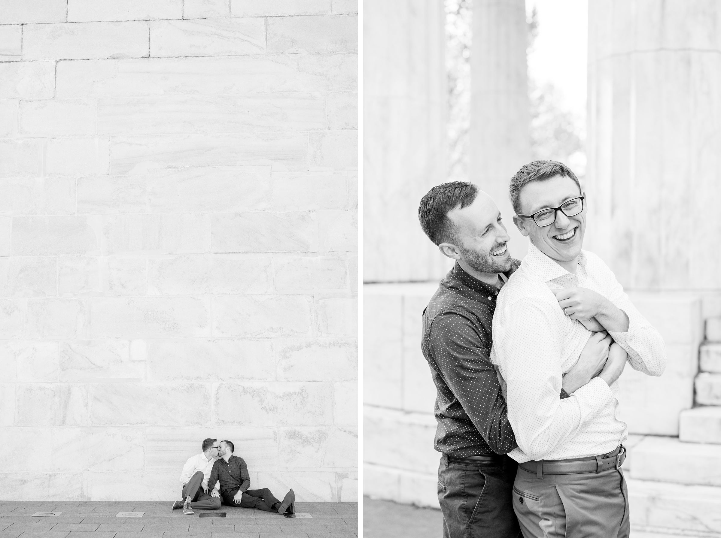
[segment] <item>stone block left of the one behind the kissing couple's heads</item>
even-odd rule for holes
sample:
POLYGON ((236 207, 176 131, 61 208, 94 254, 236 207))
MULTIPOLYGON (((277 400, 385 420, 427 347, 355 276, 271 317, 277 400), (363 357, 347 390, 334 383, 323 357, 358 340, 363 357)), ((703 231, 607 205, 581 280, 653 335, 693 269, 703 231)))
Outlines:
POLYGON ((50 459, 53 470, 63 472, 142 470, 144 441, 138 428, 58 428, 50 459))

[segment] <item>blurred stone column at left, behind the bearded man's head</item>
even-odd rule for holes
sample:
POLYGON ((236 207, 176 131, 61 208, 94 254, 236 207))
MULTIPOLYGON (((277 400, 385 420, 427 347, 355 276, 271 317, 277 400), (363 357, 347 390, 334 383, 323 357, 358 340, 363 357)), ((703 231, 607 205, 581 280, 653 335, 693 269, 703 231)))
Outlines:
POLYGON ((365 6, 364 279, 440 279, 448 264, 417 210, 423 194, 446 181, 443 1, 365 6))

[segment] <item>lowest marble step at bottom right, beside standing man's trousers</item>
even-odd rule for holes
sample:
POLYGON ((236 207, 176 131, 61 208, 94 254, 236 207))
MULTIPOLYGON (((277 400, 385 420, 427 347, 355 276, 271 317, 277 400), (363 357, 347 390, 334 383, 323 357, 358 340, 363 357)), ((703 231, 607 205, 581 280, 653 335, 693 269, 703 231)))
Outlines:
POLYGON ((631 538, 721 537, 721 488, 634 478, 627 484, 631 538))

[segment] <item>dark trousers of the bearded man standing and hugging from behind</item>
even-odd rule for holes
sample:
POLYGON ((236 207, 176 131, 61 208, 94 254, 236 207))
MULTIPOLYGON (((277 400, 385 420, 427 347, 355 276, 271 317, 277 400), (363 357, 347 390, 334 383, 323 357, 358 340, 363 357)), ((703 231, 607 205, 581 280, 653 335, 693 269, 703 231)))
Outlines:
POLYGON ((513 480, 518 464, 508 456, 500 463, 472 465, 448 461, 438 467, 438 502, 443 538, 518 538, 513 512, 513 480))

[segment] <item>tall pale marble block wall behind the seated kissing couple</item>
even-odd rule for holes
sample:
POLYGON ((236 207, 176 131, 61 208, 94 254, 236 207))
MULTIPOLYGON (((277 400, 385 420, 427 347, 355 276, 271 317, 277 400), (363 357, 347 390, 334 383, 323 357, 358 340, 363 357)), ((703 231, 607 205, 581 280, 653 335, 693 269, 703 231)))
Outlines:
POLYGON ((356 13, 0 0, 0 498, 355 501, 356 13))

